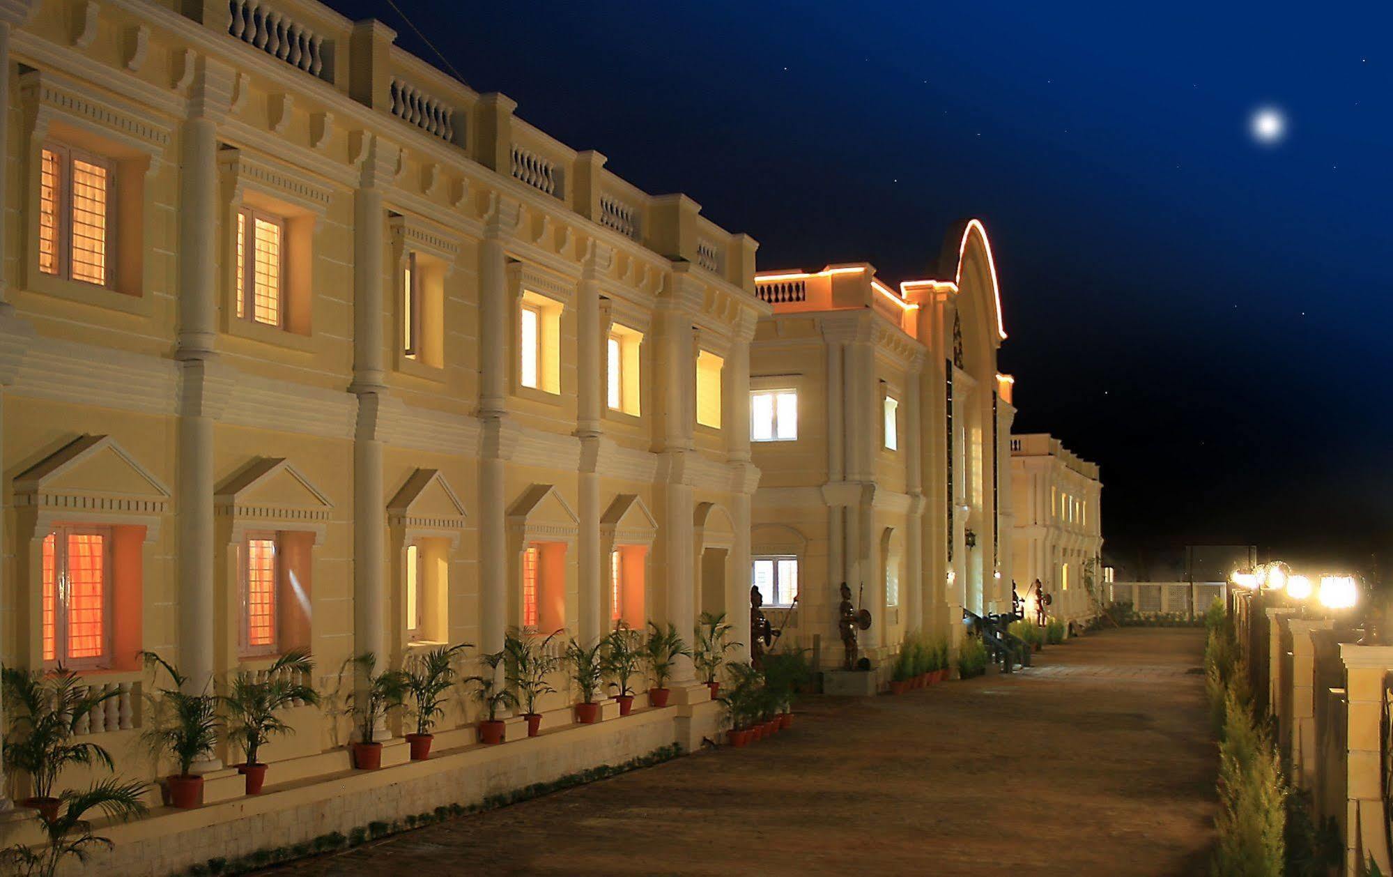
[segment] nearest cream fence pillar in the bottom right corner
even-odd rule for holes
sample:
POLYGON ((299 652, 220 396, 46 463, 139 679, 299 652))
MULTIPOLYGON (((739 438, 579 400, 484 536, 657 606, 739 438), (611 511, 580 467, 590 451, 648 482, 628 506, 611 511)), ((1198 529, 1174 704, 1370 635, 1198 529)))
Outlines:
POLYGON ((1344 758, 1346 818, 1344 873, 1362 874, 1372 857, 1387 874, 1393 870, 1383 806, 1382 724, 1386 679, 1393 671, 1393 646, 1340 643, 1348 703, 1344 758))

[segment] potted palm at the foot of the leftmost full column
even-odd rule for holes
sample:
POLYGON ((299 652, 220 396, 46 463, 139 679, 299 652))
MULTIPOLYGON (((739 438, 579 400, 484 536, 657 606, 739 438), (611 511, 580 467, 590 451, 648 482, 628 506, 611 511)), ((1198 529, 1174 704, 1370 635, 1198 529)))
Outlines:
POLYGON ((146 666, 164 668, 171 683, 171 687, 156 689, 148 696, 153 721, 141 736, 157 756, 170 754, 178 764, 178 772, 166 778, 170 803, 185 810, 196 807, 203 800, 203 778, 192 772, 194 761, 213 753, 221 724, 217 718, 217 696, 209 690, 212 680, 205 685, 203 692, 189 694, 185 690, 188 676, 169 661, 153 651, 142 651, 141 658, 146 666))

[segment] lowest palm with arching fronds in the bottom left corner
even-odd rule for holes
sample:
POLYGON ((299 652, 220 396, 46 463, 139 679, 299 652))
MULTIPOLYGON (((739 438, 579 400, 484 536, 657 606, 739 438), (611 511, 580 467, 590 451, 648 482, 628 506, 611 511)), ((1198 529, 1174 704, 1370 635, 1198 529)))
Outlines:
POLYGON ((113 823, 130 821, 145 816, 143 793, 143 782, 118 782, 114 778, 103 779, 84 792, 63 792, 57 814, 40 820, 45 844, 18 844, 0 851, 0 863, 8 866, 3 869, 4 873, 53 877, 70 857, 85 863, 93 846, 110 849, 114 846, 110 838, 92 834, 88 813, 100 810, 113 823))

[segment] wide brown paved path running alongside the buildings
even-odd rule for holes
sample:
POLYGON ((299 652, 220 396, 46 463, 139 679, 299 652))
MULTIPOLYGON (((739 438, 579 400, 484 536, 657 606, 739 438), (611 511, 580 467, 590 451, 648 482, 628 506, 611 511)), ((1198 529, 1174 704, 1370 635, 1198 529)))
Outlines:
POLYGON ((1011 676, 809 699, 772 740, 276 873, 1205 874, 1202 648, 1114 630, 1011 676))

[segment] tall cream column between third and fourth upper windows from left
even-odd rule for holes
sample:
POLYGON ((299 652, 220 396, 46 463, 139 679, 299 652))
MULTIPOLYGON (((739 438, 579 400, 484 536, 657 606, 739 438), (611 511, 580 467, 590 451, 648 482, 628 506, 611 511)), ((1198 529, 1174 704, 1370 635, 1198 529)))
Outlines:
POLYGON ((520 206, 499 201, 479 243, 479 651, 503 648, 507 627, 508 559, 504 501, 508 350, 513 297, 504 240, 520 206))

